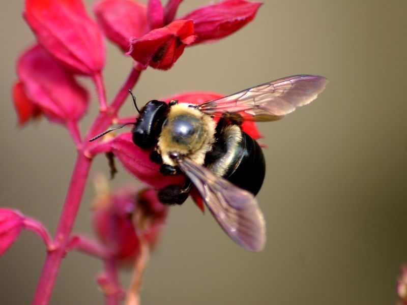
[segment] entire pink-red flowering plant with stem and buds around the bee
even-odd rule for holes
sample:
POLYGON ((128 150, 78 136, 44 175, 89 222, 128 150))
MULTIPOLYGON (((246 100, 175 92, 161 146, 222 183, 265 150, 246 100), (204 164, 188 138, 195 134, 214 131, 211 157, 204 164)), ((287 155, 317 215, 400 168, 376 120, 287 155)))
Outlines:
MULTIPOLYGON (((223 0, 177 17, 181 2, 168 0, 163 5, 160 0, 149 0, 147 4, 137 0, 101 0, 93 6, 94 21, 81 0, 25 0, 23 16, 36 42, 28 45, 17 60, 18 79, 12 95, 19 125, 41 116, 60 124, 68 130, 78 154, 54 239, 40 222, 13 209, 0 209, 0 255, 22 229, 35 232, 47 247, 34 304, 49 302, 61 260, 73 249, 104 261, 105 271, 98 282, 111 304, 118 304, 123 295, 117 264, 136 261, 135 273, 142 274, 146 253, 142 249, 153 249, 167 215, 167 208, 157 200, 156 189, 182 184, 184 177, 162 175, 158 165, 150 161, 150 151, 135 146, 129 132, 92 143, 88 140, 113 123, 129 121, 129 118, 119 117, 118 112, 128 96, 128 89, 134 87, 144 69, 170 69, 186 47, 235 33, 255 17, 261 5, 245 0, 223 0), (110 103, 106 101, 103 82, 105 38, 129 56, 131 69, 110 103), (93 80, 100 110, 83 134, 79 121, 88 109, 90 92, 80 84, 78 76, 93 80), (99 241, 94 241, 72 235, 71 231, 92 160, 101 153, 113 154, 150 188, 142 191, 135 187, 115 191, 105 188, 99 192, 93 210, 99 241)), ((199 104, 222 96, 195 92, 163 100, 199 104)), ((134 121, 134 117, 130 120, 134 121)), ((253 123, 244 123, 242 128, 253 138, 260 137, 253 123)), ((191 195, 203 209, 196 192, 191 195)), ((135 279, 133 294, 137 293, 139 281, 135 279)))

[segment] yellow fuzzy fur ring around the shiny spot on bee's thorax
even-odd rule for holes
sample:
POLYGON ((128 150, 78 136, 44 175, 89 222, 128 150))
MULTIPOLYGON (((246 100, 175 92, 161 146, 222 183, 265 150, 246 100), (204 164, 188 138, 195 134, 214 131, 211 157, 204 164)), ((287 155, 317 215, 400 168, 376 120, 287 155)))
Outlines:
POLYGON ((215 121, 211 116, 194 107, 189 107, 189 105, 191 104, 176 104, 171 106, 169 110, 167 124, 163 126, 158 138, 158 153, 161 155, 164 164, 175 166, 176 163, 169 157, 169 154, 176 152, 182 157, 189 158, 198 165, 202 165, 205 161, 205 155, 212 149, 215 141, 215 121), (180 115, 191 116, 199 120, 200 132, 193 142, 188 145, 173 141, 171 136, 171 123, 180 115))

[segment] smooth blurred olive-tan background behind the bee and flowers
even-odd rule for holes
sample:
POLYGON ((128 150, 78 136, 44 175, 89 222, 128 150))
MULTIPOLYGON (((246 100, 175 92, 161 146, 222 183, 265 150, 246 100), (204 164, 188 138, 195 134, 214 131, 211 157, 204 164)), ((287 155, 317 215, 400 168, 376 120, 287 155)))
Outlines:
MULTIPOLYGON (((86 1, 89 11, 93 1, 86 1)), ((185 1, 179 16, 207 4, 185 1)), ((0 206, 20 209, 54 232, 75 159, 66 131, 47 120, 19 128, 11 102, 14 63, 34 37, 23 1, 0 10, 2 143, 0 206)), ((407 18, 405 0, 273 0, 234 35, 185 49, 166 72, 149 68, 134 93, 147 102, 186 90, 235 93, 294 74, 330 80, 311 105, 259 125, 267 176, 257 198, 267 245, 253 254, 186 202, 171 209, 147 268, 142 304, 394 304, 407 262, 407 18)), ((111 99, 130 58, 108 45, 111 99)), ((96 94, 84 120, 97 111, 96 94)), ((128 101, 122 114, 133 115, 128 101)), ((113 185, 136 181, 123 168, 113 185)), ((91 176, 108 174, 98 157, 91 176)), ((74 232, 93 234, 86 188, 74 232)), ((28 304, 45 250, 23 232, 0 258, 3 304, 28 304)), ((80 253, 63 261, 52 304, 101 304, 102 264, 80 253)), ((129 276, 124 273, 123 281, 129 276)))

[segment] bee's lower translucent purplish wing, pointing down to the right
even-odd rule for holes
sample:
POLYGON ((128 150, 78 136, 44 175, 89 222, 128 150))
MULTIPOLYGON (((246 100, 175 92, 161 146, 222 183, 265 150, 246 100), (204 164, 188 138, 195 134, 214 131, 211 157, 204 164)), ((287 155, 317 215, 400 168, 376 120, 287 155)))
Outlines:
POLYGON ((226 234, 249 251, 263 250, 266 225, 254 196, 189 159, 179 159, 178 165, 226 234))

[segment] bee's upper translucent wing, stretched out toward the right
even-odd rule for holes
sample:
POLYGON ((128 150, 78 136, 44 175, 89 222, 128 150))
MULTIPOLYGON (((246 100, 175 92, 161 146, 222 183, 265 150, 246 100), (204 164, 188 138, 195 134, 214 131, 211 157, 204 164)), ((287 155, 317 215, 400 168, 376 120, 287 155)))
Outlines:
POLYGON ((327 83, 322 76, 288 76, 203 103, 197 108, 207 114, 239 112, 245 120, 272 121, 315 100, 327 83))

